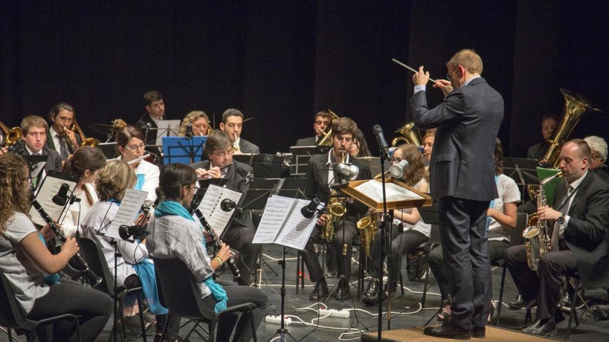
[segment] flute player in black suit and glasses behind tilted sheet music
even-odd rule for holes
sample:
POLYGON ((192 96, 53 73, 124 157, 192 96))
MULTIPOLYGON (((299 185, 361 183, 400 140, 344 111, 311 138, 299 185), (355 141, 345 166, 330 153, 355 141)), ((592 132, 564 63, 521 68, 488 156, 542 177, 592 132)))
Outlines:
MULTIPOLYGON (((191 167, 197 172, 199 179, 225 178, 228 180, 226 186, 229 189, 243 193, 241 197, 243 201, 248 184, 245 184, 240 173, 252 173, 253 169, 247 164, 233 160, 233 152, 228 135, 223 131, 215 130, 209 134, 205 142, 205 154, 209 160, 195 162, 191 167)), ((250 276, 255 271, 256 259, 260 252, 260 245, 252 243, 255 233, 256 228, 250 214, 235 212, 233 220, 221 236, 222 241, 241 253, 241 261, 236 265, 242 279, 247 283, 250 282, 250 276)))

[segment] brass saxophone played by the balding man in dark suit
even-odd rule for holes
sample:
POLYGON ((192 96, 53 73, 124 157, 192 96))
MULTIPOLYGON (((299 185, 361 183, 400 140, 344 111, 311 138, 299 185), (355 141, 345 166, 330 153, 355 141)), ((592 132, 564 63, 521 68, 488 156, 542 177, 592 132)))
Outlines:
MULTIPOLYGON (((562 172, 544 178, 539 182, 539 194, 537 196, 537 206, 547 206, 546 190, 544 186, 554 178, 563 176, 562 172)), ((524 245, 527 251, 527 265, 535 272, 539 270, 539 262, 543 254, 550 249, 550 237, 547 236, 547 221, 538 220, 537 225, 524 229, 524 245)))

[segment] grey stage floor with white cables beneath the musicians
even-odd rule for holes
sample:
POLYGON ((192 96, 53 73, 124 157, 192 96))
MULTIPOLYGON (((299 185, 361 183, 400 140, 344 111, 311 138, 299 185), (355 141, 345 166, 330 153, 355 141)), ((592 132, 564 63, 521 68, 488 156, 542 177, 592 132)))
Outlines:
MULTIPOLYGON (((269 296, 270 302, 272 305, 269 307, 269 315, 279 315, 280 313, 280 286, 281 286, 281 268, 278 265, 276 259, 281 257, 281 248, 279 246, 265 246, 264 249, 264 260, 268 263, 270 267, 275 270, 278 275, 275 276, 273 272, 267 267, 264 266, 264 274, 262 284, 262 290, 264 290, 269 296)), ((290 335, 292 335, 297 341, 298 340, 319 340, 319 341, 335 341, 339 340, 342 337, 342 340, 360 340, 361 333, 359 330, 364 330, 365 332, 376 332, 378 323, 378 316, 375 315, 376 310, 378 310, 378 306, 375 307, 367 307, 360 300, 356 298, 357 289, 355 287, 351 288, 351 295, 353 295, 353 301, 350 302, 338 302, 335 299, 329 299, 327 302, 329 309, 342 309, 342 310, 350 310, 350 318, 323 318, 319 320, 319 326, 315 327, 311 325, 311 323, 317 324, 317 313, 312 310, 299 310, 305 307, 314 307, 315 302, 309 301, 309 295, 312 291, 312 284, 309 281, 305 282, 305 288, 300 289, 299 294, 295 293, 295 282, 296 282, 296 262, 295 262, 296 253, 294 250, 288 251, 286 254, 286 308, 285 314, 292 316, 292 324, 290 326, 286 326, 290 335), (356 309, 356 310, 353 310, 356 309), (295 316, 295 317, 294 317, 295 316), (304 321, 305 323, 309 323, 309 325, 305 325, 303 323, 296 323, 304 321), (350 331, 348 329, 352 328, 350 331)), ((404 262, 405 266, 406 262, 404 262)), ((353 271, 357 271, 357 265, 354 263, 353 271)), ((493 299, 498 300, 499 298, 499 286, 501 285, 501 268, 497 268, 493 270, 493 299)), ((225 273, 222 276, 222 279, 230 279, 230 272, 225 273)), ((398 295, 396 295, 392 299, 392 319, 391 319, 391 329, 406 329, 410 327, 423 326, 429 318, 434 316, 435 312, 438 310, 438 305, 440 305, 440 296, 437 285, 432 285, 427 293, 427 299, 425 303, 425 308, 421 309, 420 307, 420 299, 423 293, 423 281, 408 281, 406 277, 406 271, 403 271, 404 277, 404 295, 400 295, 400 291, 398 290, 398 295)), ((356 279, 354 275, 352 277, 353 280, 356 279)), ((431 282, 434 281, 432 277, 430 279, 431 282)), ((336 282, 336 278, 328 278, 328 284, 331 287, 334 282, 336 282)), ((524 324, 524 310, 510 310, 507 307, 507 303, 512 301, 516 294, 515 285, 512 282, 509 273, 506 276, 505 281, 505 293, 504 293, 504 302, 505 305, 501 312, 501 327, 505 329, 514 329, 516 330, 518 326, 524 324)), ((586 298, 591 296, 593 298, 600 298, 600 296, 604 295, 604 290, 594 290, 594 291, 586 291, 586 298)), ((580 314, 583 312, 583 309, 578 311, 580 314)), ((495 310, 496 314, 496 310, 495 310)), ((534 313, 533 313, 534 316, 534 313)), ((435 324, 437 321, 432 319, 430 324, 435 324)), ((491 321, 491 324, 495 324, 495 317, 491 321)), ((188 328, 192 324, 189 324, 186 327, 183 327, 180 330, 180 336, 186 335, 188 332, 188 328)), ((575 326, 575 323, 573 324, 575 326)), ((558 335, 555 338, 563 339, 565 337, 567 327, 567 320, 563 323, 558 324, 558 335)), ((273 334, 276 333, 279 328, 276 324, 270 324, 266 322, 262 322, 262 324, 258 328, 258 341, 268 341, 273 337, 273 334)), ((387 329, 387 319, 383 320, 382 325, 383 330, 387 329)), ((108 325, 105 327, 102 335, 97 339, 99 341, 107 341, 111 330, 111 319, 108 325)), ((421 333, 422 335, 422 333, 421 333)), ((278 336, 278 335, 277 335, 278 336)), ((580 326, 574 327, 571 330, 571 336, 569 340, 571 341, 586 341, 586 342, 596 342, 596 341, 607 341, 607 337, 609 336, 609 321, 598 321, 596 319, 591 318, 588 315, 584 315, 580 319, 580 326)), ((20 341, 24 341, 24 337, 19 337, 20 341)), ((152 341, 152 338, 148 338, 149 341, 152 341)), ((195 341, 203 341, 196 334, 191 335, 190 340, 192 342, 195 341)), ((279 338, 276 338, 279 340, 279 338)), ((437 340, 437 339, 436 339, 437 340)), ((0 341, 8 341, 7 335, 4 332, 0 332, 0 341)), ((141 338, 139 339, 141 341, 141 338)))

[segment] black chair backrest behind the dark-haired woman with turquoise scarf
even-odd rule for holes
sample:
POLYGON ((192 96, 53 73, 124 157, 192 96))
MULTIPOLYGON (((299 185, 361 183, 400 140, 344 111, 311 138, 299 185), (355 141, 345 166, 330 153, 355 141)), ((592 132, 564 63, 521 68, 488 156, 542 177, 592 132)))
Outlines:
POLYGON ((177 258, 153 258, 163 305, 172 315, 190 319, 214 319, 215 313, 203 304, 191 271, 177 258))

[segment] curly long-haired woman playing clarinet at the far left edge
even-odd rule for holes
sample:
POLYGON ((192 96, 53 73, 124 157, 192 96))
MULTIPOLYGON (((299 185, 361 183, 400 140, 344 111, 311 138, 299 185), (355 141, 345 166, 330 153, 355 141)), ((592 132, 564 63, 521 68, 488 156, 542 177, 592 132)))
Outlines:
MULTIPOLYGON (((78 253, 79 246, 76 239, 68 236, 60 253, 49 253, 43 239, 50 239, 54 234, 46 226, 39 235, 27 215, 29 201, 26 164, 13 153, 1 154, 0 272, 9 281, 26 318, 37 321, 76 313, 79 315, 82 341, 95 341, 110 318, 112 300, 101 291, 74 282, 45 284, 45 276, 63 270, 68 260, 78 253)), ((10 308, 2 307, 1 310, 10 311, 10 308)), ((52 340, 78 341, 75 331, 71 324, 55 324, 52 340)))

